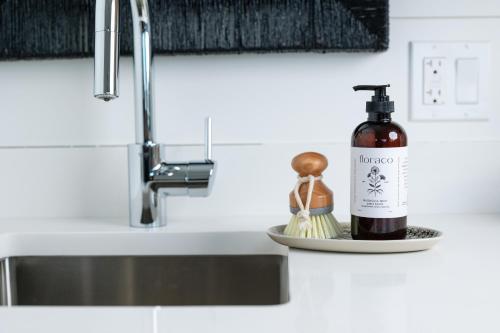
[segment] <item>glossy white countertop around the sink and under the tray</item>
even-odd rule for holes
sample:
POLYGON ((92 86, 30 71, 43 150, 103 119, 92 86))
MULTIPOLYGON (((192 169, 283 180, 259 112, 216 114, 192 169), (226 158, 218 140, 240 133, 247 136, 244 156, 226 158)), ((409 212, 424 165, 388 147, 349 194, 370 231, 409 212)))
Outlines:
MULTIPOLYGON (((148 231, 124 219, 5 220, 0 251, 8 235, 256 231, 286 222, 174 220, 148 231)), ((284 305, 2 307, 0 332, 499 332, 500 215, 412 216, 410 223, 445 238, 432 250, 405 254, 291 250, 291 300, 284 305)))

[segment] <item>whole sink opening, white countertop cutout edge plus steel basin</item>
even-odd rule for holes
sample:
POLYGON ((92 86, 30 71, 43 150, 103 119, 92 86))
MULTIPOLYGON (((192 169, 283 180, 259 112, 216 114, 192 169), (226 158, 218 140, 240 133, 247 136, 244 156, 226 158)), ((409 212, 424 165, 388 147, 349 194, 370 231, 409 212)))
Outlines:
POLYGON ((26 235, 6 243, 13 250, 0 259, 1 305, 288 301, 286 249, 263 233, 26 235))

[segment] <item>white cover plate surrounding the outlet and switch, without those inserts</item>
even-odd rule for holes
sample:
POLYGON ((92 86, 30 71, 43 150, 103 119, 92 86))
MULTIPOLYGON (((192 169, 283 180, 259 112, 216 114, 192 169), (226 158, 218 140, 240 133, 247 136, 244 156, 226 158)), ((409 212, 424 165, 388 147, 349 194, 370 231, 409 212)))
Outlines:
POLYGON ((489 71, 489 42, 411 42, 410 119, 488 120, 489 71), (440 82, 431 82, 432 86, 442 88, 443 99, 437 103, 429 103, 425 98, 425 88, 429 86, 425 66, 432 59, 445 64, 440 82), (475 104, 457 103, 458 59, 477 59, 479 62, 478 101, 475 104))

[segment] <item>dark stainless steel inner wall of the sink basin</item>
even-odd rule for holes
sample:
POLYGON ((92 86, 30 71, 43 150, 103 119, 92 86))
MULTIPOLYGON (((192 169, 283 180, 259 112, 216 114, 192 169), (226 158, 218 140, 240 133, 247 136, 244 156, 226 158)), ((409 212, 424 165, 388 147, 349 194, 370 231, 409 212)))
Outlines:
POLYGON ((259 305, 288 300, 280 255, 14 257, 7 305, 259 305))

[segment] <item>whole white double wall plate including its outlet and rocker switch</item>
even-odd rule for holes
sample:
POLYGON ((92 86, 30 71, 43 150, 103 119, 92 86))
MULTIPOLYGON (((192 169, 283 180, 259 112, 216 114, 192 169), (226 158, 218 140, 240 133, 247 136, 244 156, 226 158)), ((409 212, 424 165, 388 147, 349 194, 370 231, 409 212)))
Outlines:
POLYGON ((412 42, 410 71, 411 120, 488 119, 488 42, 412 42))

